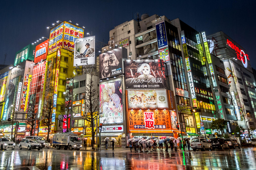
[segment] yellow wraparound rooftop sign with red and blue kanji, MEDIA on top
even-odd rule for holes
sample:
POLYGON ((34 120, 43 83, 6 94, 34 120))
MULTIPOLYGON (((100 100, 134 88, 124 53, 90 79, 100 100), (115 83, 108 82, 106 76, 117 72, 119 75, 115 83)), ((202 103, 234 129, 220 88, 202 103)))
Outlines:
POLYGON ((48 54, 60 48, 74 51, 75 40, 83 37, 84 29, 64 21, 50 31, 48 54))

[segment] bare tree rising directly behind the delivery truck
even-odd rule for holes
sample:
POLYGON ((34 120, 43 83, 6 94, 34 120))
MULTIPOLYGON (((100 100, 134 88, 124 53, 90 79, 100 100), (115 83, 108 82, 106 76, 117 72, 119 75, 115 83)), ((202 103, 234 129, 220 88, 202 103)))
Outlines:
POLYGON ((61 103, 61 108, 62 110, 60 110, 60 115, 61 117, 59 116, 58 117, 58 120, 60 122, 63 122, 63 123, 66 123, 67 125, 67 128, 66 128, 66 132, 69 131, 69 125, 70 124, 70 121, 69 121, 69 118, 71 117, 71 114, 73 113, 70 113, 70 110, 71 110, 71 105, 72 105, 72 99, 73 99, 73 83, 72 83, 72 80, 68 80, 67 81, 67 86, 66 86, 66 92, 65 92, 65 102, 64 103, 61 103), (66 121, 65 121, 66 119, 66 121), (68 122, 69 121, 69 122, 68 122))

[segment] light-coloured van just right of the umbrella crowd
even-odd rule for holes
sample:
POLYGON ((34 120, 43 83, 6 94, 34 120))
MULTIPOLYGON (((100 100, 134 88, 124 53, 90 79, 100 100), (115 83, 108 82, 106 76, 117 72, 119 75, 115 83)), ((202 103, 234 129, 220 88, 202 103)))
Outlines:
POLYGON ((190 146, 193 151, 196 151, 196 149, 201 149, 201 151, 205 151, 205 149, 213 149, 211 143, 209 143, 204 138, 193 138, 190 142, 190 146))

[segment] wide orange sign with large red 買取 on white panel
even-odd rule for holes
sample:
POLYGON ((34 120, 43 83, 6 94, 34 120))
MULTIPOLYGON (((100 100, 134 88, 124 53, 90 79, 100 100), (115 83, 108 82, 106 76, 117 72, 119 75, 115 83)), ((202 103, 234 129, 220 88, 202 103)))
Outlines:
POLYGON ((169 112, 143 112, 128 111, 129 130, 171 130, 169 112))

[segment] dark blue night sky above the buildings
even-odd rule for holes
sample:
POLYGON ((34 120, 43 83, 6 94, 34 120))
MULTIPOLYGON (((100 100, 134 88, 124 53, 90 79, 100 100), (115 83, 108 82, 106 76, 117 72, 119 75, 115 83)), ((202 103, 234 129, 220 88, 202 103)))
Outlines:
MULTIPOLYGON (((1 1, 0 64, 13 64, 15 53, 41 37, 50 36, 57 20, 85 26, 96 40, 107 43, 109 31, 134 19, 134 15, 165 15, 180 18, 207 35, 223 31, 247 50, 252 67, 256 68, 256 1, 1 1), (133 18, 132 18, 133 17, 133 18)), ((85 35, 87 36, 87 35, 85 35)))

